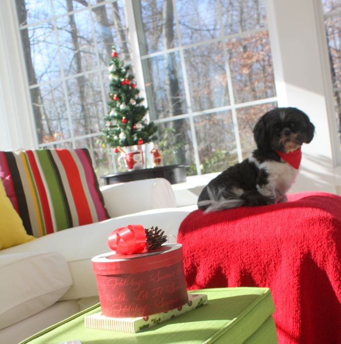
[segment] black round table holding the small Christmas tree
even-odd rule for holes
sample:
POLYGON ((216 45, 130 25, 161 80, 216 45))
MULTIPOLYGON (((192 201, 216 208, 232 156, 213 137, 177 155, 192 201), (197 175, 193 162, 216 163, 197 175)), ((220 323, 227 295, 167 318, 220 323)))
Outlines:
POLYGON ((141 170, 106 174, 104 176, 100 176, 100 178, 104 179, 105 185, 150 178, 165 178, 171 184, 178 184, 186 181, 187 166, 189 165, 157 166, 141 170))

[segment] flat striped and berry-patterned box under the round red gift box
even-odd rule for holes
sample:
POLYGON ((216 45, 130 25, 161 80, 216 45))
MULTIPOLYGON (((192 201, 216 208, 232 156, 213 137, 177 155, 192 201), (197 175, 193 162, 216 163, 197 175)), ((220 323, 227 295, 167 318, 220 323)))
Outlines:
POLYGON ((99 312, 86 316, 84 318, 84 324, 87 328, 95 328, 98 330, 136 333, 207 304, 206 294, 189 293, 188 303, 167 312, 136 318, 111 318, 99 312))

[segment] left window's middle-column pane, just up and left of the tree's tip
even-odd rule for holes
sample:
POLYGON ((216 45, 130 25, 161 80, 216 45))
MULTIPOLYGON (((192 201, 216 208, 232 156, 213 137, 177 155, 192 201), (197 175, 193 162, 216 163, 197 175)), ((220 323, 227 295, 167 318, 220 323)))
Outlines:
POLYGON ((65 75, 78 74, 96 68, 89 12, 82 11, 62 17, 56 23, 65 75))

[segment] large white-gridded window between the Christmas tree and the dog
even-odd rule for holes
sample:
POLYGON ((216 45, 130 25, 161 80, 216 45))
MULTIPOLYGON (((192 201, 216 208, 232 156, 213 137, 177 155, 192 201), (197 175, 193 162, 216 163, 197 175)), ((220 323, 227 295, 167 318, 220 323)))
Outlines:
POLYGON ((253 0, 133 2, 150 117, 166 163, 217 172, 255 148, 276 105, 265 5, 253 0))

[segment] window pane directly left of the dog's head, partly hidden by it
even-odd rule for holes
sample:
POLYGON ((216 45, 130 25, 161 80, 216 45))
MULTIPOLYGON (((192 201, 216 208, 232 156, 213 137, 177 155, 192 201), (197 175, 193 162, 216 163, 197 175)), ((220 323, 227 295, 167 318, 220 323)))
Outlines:
POLYGON ((256 149, 256 143, 252 133, 256 122, 262 115, 276 106, 277 103, 267 103, 237 109, 238 129, 242 145, 243 159, 246 159, 256 149))

